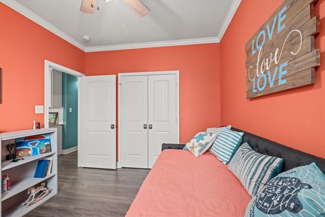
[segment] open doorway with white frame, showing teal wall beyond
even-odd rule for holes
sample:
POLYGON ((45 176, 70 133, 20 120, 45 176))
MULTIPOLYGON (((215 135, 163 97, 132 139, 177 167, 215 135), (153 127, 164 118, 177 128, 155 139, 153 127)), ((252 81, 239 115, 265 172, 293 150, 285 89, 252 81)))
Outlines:
POLYGON ((82 73, 45 60, 44 126, 57 128, 58 154, 78 149, 80 165, 80 84, 82 73), (57 112, 54 125, 49 125, 49 112, 57 112))

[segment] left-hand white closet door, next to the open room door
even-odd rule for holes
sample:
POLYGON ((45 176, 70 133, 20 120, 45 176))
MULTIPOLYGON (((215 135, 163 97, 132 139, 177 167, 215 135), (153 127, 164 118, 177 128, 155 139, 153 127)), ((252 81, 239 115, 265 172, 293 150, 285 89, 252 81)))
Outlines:
POLYGON ((121 77, 122 167, 148 168, 148 77, 121 77))

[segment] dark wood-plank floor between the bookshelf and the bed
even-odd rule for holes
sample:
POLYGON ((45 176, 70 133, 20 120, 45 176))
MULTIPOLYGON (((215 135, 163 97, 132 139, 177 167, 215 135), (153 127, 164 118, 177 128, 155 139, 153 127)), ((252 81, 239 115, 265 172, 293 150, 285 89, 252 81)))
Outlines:
POLYGON ((77 167, 77 151, 58 156, 58 194, 25 216, 124 216, 149 169, 77 167))

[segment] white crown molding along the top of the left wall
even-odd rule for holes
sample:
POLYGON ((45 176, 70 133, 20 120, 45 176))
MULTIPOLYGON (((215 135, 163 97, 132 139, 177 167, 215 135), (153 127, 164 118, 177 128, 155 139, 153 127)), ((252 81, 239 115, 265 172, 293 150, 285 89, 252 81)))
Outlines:
POLYGON ((49 22, 45 21, 43 18, 40 16, 36 15, 35 13, 31 12, 27 8, 23 7, 19 3, 17 3, 14 0, 0 0, 1 3, 7 5, 8 7, 12 8, 13 10, 17 11, 18 13, 24 15, 28 19, 36 22, 37 24, 41 25, 42 27, 46 28, 50 32, 54 33, 58 37, 66 40, 70 44, 78 47, 79 49, 85 51, 86 47, 83 46, 81 43, 77 42, 67 34, 63 33, 61 30, 56 28, 54 25, 50 24, 49 22))

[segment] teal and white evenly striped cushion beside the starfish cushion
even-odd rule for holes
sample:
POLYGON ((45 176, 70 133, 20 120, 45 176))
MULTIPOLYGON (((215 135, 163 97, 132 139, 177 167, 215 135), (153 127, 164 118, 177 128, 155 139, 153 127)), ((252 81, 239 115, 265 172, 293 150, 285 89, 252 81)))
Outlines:
POLYGON ((228 164, 238 149, 243 135, 243 132, 239 133, 227 128, 222 129, 211 146, 210 152, 213 153, 219 161, 222 161, 223 164, 228 164))

